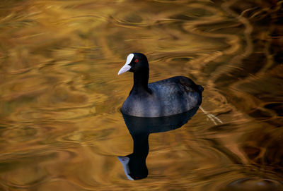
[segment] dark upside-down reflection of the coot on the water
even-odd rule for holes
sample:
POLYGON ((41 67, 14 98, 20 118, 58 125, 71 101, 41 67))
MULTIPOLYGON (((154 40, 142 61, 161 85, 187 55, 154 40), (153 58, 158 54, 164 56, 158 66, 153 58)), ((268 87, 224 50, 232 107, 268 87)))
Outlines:
POLYGON ((127 156, 118 156, 129 180, 146 178, 146 156, 149 154, 149 134, 166 132, 180 128, 197 112, 197 108, 174 116, 159 118, 141 118, 123 114, 125 123, 134 141, 134 152, 127 156))

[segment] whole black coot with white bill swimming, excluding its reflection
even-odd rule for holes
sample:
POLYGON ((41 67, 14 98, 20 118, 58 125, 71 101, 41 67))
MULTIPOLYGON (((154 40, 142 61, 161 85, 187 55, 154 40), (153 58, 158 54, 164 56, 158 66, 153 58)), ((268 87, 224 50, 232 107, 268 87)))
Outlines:
POLYGON ((144 54, 129 54, 118 74, 127 70, 134 73, 134 85, 122 105, 123 114, 139 117, 172 116, 202 103, 203 88, 190 78, 175 76, 148 84, 149 64, 144 54))

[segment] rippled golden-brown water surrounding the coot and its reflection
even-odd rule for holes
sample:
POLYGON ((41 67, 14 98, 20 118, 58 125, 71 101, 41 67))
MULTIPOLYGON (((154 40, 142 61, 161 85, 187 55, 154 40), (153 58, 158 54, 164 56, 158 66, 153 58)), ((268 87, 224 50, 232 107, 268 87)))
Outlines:
POLYGON ((257 181, 280 190, 282 4, 2 0, 0 190, 244 190, 257 181), (199 110, 151 134, 149 176, 130 181, 117 156, 132 152, 119 111, 132 73, 117 72, 137 51, 151 82, 186 75, 202 85, 202 107, 223 123, 199 110))

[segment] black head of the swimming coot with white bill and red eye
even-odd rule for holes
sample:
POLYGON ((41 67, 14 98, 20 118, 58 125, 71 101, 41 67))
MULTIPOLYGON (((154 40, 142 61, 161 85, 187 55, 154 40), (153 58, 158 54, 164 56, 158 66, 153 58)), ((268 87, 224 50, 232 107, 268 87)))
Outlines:
POLYGON ((120 69, 118 75, 125 72, 140 73, 149 71, 149 63, 146 56, 141 53, 131 53, 127 56, 125 65, 120 69))

